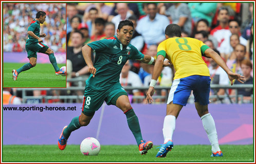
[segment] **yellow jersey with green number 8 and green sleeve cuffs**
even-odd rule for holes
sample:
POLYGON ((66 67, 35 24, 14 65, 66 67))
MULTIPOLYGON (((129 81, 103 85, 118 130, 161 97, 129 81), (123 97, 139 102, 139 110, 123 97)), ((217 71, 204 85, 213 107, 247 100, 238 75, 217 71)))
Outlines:
POLYGON ((157 55, 163 55, 172 62, 174 79, 191 75, 210 76, 209 69, 202 58, 209 47, 202 41, 190 37, 171 37, 161 42, 157 55))

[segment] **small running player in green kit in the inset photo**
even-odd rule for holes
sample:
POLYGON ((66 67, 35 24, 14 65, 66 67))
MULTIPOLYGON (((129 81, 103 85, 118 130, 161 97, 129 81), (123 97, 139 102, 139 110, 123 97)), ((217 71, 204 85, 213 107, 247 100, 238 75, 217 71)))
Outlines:
POLYGON ((28 39, 26 41, 26 51, 28 53, 29 63, 23 65, 17 70, 12 70, 13 80, 17 80, 17 76, 22 72, 29 70, 36 65, 37 55, 36 52, 45 53, 49 56, 50 62, 55 70, 56 75, 66 74, 66 71, 61 71, 57 65, 56 58, 48 46, 43 44, 43 40, 40 37, 45 37, 46 34, 40 34, 40 24, 45 22, 46 13, 39 11, 35 15, 35 19, 32 20, 28 27, 28 39))

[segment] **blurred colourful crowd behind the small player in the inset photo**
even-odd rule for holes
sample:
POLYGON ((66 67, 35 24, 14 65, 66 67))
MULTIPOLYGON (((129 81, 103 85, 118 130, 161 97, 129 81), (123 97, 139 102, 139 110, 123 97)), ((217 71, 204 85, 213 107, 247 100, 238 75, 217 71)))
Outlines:
POLYGON ((43 43, 54 52, 66 52, 66 4, 3 3, 4 52, 25 52, 28 27, 38 11, 46 12, 43 43))

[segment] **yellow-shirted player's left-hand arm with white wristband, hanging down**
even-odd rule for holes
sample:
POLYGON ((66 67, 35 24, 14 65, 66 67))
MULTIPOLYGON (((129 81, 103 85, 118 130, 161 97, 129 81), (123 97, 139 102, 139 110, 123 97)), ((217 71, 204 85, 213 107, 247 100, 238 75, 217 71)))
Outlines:
POLYGON ((151 104, 153 101, 152 95, 155 92, 154 87, 156 85, 157 78, 159 77, 159 75, 161 74, 161 71, 162 71, 163 60, 164 60, 164 57, 162 55, 157 56, 156 63, 155 63, 154 69, 153 69, 150 87, 147 92, 146 103, 149 102, 149 104, 151 104))

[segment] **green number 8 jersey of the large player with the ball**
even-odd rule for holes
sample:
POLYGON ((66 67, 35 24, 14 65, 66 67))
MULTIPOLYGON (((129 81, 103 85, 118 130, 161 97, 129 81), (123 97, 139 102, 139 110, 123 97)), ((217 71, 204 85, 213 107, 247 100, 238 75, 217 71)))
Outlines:
POLYGON ((133 45, 123 46, 116 36, 89 43, 88 46, 96 53, 94 67, 97 71, 95 77, 90 74, 86 86, 96 91, 119 83, 121 70, 128 59, 144 58, 133 45))

